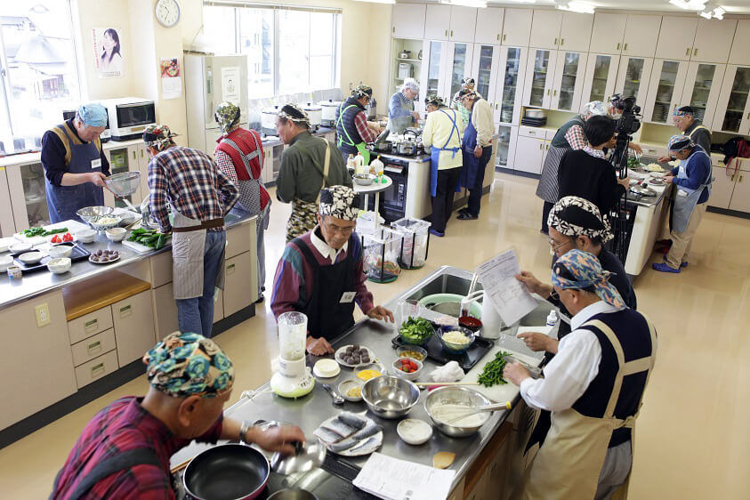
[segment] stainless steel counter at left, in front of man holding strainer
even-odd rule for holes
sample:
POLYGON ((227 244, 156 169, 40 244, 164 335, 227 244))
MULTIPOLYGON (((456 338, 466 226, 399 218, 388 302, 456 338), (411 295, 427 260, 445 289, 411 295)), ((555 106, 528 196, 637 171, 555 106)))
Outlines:
MULTIPOLYGON (((234 208, 227 216, 227 229, 246 224, 247 222, 253 221, 255 218, 255 215, 251 216, 238 208, 234 208)), ((50 292, 61 286, 72 285, 78 281, 92 278, 101 272, 115 270, 132 264, 133 262, 148 259, 161 252, 169 251, 172 247, 167 245, 161 250, 154 250, 146 254, 140 254, 121 243, 113 243, 109 241, 103 232, 99 232, 96 235, 96 239, 94 239, 93 243, 78 243, 77 245, 82 246, 92 253, 100 249, 117 250, 120 253, 120 260, 111 264, 93 264, 88 261, 73 262, 70 270, 66 273, 52 274, 52 272, 48 270, 37 270, 35 272, 24 274, 23 278, 18 281, 11 281, 10 278, 8 278, 8 274, 4 272, 0 274, 0 309, 13 303, 27 300, 36 295, 50 292)))

